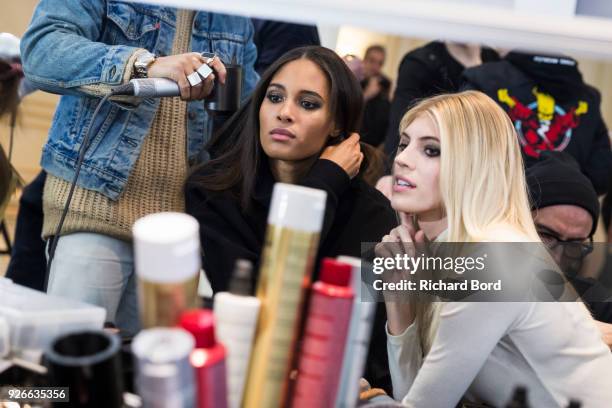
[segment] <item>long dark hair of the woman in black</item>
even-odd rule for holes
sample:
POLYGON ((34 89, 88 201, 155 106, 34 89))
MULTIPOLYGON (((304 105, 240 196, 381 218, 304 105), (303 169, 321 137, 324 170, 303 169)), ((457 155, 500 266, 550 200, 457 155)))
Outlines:
POLYGON ((359 82, 344 61, 328 48, 296 48, 285 53, 263 73, 248 102, 213 136, 207 146, 211 159, 194 169, 187 180, 188 186, 230 191, 240 199, 243 210, 249 207, 257 171, 265 156, 259 140, 259 108, 272 77, 285 64, 302 58, 315 63, 327 78, 335 129, 344 137, 359 131, 363 95, 359 82))

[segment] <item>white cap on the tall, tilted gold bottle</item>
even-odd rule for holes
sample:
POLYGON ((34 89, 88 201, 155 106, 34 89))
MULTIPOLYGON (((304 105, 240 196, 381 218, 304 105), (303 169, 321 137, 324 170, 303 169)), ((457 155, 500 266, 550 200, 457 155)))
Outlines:
POLYGON ((304 232, 320 232, 327 193, 314 188, 276 183, 268 224, 304 232))

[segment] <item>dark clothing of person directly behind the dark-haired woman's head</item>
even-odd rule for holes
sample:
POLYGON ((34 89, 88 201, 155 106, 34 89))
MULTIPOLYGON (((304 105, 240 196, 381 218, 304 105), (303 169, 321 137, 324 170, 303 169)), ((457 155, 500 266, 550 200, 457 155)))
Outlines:
POLYGON ((319 31, 315 25, 286 23, 275 20, 252 18, 257 46, 255 71, 264 71, 287 51, 308 45, 321 45, 319 31))

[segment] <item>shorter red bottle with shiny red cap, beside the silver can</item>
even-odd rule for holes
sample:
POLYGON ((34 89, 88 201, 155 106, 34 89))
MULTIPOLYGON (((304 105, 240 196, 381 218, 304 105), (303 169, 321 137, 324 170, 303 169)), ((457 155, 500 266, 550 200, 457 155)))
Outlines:
POLYGON ((180 325, 196 340, 191 365, 196 370, 198 408, 227 408, 225 347, 215 340, 215 322, 210 310, 189 310, 180 325))

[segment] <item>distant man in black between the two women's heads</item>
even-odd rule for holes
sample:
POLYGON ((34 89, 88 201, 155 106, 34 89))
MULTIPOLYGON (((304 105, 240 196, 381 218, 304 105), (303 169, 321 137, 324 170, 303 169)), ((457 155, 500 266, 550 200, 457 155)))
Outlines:
POLYGON ((391 80, 387 78, 382 68, 387 52, 382 45, 371 45, 363 57, 363 97, 365 101, 361 140, 374 147, 382 144, 389 123, 389 92, 391 80))

